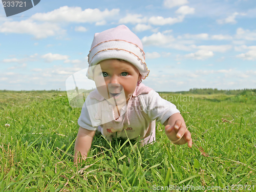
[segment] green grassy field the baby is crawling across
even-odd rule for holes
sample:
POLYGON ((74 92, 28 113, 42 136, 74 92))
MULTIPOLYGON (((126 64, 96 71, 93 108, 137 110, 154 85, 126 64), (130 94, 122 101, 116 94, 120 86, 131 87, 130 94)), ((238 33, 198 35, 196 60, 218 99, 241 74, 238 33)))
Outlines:
POLYGON ((142 148, 96 135, 75 166, 81 109, 66 93, 1 91, 0 191, 256 191, 255 93, 160 95, 178 106, 192 148, 157 123, 157 141, 142 148))

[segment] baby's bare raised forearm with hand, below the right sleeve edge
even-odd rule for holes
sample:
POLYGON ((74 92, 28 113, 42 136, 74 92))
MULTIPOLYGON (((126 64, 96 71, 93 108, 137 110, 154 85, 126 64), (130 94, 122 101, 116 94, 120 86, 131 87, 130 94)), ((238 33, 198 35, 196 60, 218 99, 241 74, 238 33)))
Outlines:
POLYGON ((191 134, 187 130, 185 121, 180 113, 175 113, 172 116, 170 116, 164 122, 164 125, 165 125, 165 134, 169 138, 170 141, 173 141, 175 144, 187 143, 187 145, 189 147, 192 147, 191 134), (179 141, 177 141, 177 140, 179 140, 179 141), (175 141, 177 141, 177 142, 175 142, 175 141))

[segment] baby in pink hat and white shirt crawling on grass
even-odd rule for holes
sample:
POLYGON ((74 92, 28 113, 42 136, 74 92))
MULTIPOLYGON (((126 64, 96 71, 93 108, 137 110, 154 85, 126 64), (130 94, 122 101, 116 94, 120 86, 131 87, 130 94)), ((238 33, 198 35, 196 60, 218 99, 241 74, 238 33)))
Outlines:
POLYGON ((141 81, 150 72, 140 39, 124 25, 96 33, 88 55, 87 77, 97 89, 87 97, 78 119, 75 142, 86 159, 95 132, 112 137, 139 139, 142 145, 156 139, 156 121, 175 144, 192 146, 190 132, 176 106, 162 99, 141 81))

